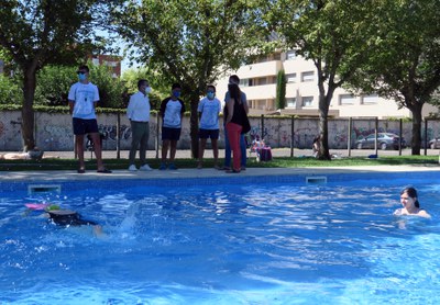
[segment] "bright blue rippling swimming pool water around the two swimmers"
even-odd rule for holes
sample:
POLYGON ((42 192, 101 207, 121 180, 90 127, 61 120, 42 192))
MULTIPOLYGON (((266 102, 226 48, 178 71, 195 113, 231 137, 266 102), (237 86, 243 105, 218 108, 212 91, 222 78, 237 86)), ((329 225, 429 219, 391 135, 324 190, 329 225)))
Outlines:
POLYGON ((0 304, 438 304, 439 178, 0 183, 0 304), (392 215, 408 184, 431 221, 392 215), (30 202, 106 236, 48 224, 30 202))

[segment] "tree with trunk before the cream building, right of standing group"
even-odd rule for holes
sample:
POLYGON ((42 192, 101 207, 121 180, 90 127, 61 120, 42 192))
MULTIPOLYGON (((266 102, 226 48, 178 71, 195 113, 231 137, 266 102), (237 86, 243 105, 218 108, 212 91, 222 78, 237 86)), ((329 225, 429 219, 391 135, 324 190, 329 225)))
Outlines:
POLYGON ((367 55, 372 1, 262 1, 265 20, 285 47, 314 61, 319 90, 319 159, 330 160, 328 112, 334 90, 353 77, 367 55))

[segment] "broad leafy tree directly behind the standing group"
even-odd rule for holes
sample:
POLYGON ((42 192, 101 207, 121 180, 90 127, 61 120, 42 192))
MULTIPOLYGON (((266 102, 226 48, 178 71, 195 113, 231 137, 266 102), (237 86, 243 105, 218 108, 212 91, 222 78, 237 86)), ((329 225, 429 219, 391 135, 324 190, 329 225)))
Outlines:
POLYGON ((119 33, 135 47, 135 58, 179 82, 190 101, 191 152, 198 157, 197 105, 207 83, 239 68, 258 32, 253 32, 253 1, 132 0, 114 14, 119 33))

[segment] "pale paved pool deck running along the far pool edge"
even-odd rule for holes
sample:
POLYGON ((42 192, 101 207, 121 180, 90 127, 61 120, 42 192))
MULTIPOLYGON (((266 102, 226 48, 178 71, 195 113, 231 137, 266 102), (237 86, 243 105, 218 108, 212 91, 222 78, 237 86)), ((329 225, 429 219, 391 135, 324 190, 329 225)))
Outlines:
POLYGON ((88 170, 86 173, 76 171, 54 170, 54 171, 0 171, 0 182, 51 182, 51 181, 87 181, 87 180, 124 180, 124 179, 207 179, 215 177, 252 177, 252 176, 323 176, 330 173, 371 173, 371 172, 402 172, 408 174, 419 171, 438 171, 440 166, 364 166, 364 167, 326 167, 326 168, 249 168, 241 173, 227 173, 213 168, 204 169, 178 169, 178 170, 157 170, 135 171, 113 170, 112 173, 98 173, 96 170, 88 170))

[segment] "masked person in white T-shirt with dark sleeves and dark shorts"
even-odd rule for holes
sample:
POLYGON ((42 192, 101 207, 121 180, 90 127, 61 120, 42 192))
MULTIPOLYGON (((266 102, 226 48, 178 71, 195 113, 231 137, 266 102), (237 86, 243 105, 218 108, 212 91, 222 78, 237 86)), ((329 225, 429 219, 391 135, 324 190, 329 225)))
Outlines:
POLYGON ((180 100, 180 84, 173 83, 172 95, 161 103, 160 115, 162 116, 162 160, 160 170, 176 170, 174 163, 176 157, 177 142, 180 138, 182 120, 185 113, 184 101, 180 100), (169 148, 169 163, 166 161, 169 148))

